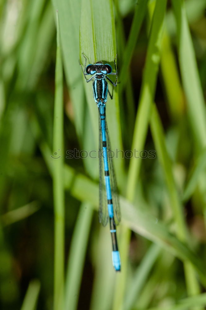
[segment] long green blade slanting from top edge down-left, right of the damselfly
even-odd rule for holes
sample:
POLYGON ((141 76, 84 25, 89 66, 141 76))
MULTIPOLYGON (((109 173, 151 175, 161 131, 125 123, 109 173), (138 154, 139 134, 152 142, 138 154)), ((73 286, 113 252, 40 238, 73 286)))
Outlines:
MULTIPOLYGON (((134 148, 137 150, 142 150, 144 148, 159 69, 165 7, 166 1, 157 0, 144 67, 144 78, 141 86, 139 108, 135 121, 132 150, 134 148)), ((134 157, 131 158, 127 183, 127 198, 131 201, 134 199, 136 180, 139 177, 140 165, 140 159, 136 160, 134 157)))

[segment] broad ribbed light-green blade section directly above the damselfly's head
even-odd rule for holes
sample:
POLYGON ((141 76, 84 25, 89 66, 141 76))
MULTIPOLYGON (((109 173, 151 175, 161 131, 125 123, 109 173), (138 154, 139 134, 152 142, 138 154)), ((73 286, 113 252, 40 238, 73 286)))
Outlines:
MULTIPOLYGON (((117 54, 114 13, 111 0, 83 0, 80 24, 80 52, 89 63, 112 62, 117 54), (100 11, 101 14, 97 14, 100 11)), ((80 55, 82 63, 84 57, 80 55)))

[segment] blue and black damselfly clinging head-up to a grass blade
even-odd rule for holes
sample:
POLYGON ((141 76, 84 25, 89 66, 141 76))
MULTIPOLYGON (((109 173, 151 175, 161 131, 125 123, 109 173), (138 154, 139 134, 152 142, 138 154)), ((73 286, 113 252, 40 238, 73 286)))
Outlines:
MULTIPOLYGON (((84 56, 84 54, 82 54, 84 56)), ((109 93, 110 98, 113 98, 114 86, 117 86, 117 68, 116 68, 116 57, 114 58, 114 67, 115 73, 112 72, 112 67, 110 64, 103 64, 102 61, 96 62, 95 64, 89 64, 86 67, 87 59, 85 58, 84 70, 81 66, 81 69, 84 73, 84 78, 87 82, 93 81, 93 93, 94 100, 99 109, 99 221, 103 226, 110 223, 110 232, 112 236, 112 262, 114 269, 120 271, 120 255, 117 244, 117 235, 116 235, 116 225, 119 224, 121 215, 119 207, 119 198, 117 192, 117 183, 114 174, 114 165, 111 156, 109 156, 110 143, 109 135, 107 129, 106 121, 106 102, 107 94, 109 93), (116 81, 113 82, 107 75, 115 75, 116 81), (92 75, 91 78, 87 79, 86 75, 92 75), (108 89, 109 81, 113 88, 112 94, 108 89), (104 168, 103 168, 104 167, 104 168), (103 181, 103 174, 105 177, 105 182, 103 181)))

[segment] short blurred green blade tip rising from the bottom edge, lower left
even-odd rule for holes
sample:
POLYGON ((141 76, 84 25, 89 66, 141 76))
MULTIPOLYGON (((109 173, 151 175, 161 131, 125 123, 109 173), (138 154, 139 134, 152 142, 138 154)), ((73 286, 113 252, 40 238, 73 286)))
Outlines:
POLYGON ((21 310, 35 310, 37 305, 37 300, 40 292, 40 281, 32 280, 29 282, 29 286, 24 297, 24 302, 22 304, 21 310))

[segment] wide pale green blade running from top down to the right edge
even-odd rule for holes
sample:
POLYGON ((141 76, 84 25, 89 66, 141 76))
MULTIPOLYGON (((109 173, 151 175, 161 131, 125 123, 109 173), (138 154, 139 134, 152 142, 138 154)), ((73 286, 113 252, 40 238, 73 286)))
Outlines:
POLYGON ((184 1, 172 0, 177 23, 178 57, 183 88, 187 98, 188 116, 191 122, 197 150, 206 145, 206 111, 204 96, 188 26, 184 1))

